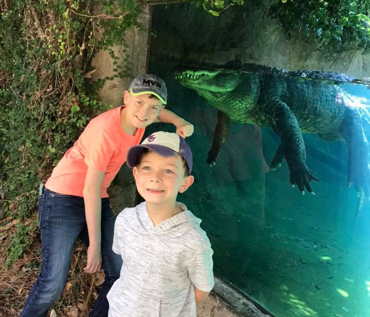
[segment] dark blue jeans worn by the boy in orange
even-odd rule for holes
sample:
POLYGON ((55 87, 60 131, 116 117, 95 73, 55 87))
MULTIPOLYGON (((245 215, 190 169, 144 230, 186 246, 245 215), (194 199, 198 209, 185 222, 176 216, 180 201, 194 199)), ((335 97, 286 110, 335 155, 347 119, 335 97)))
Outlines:
MULTIPOLYGON (((101 252, 105 274, 90 317, 108 315, 106 294, 119 277, 122 259, 112 251, 115 216, 109 199, 102 198, 101 252)), ((41 273, 28 295, 21 317, 45 317, 65 288, 73 246, 79 237, 88 246, 82 197, 44 190, 39 197, 39 224, 42 244, 41 273)))

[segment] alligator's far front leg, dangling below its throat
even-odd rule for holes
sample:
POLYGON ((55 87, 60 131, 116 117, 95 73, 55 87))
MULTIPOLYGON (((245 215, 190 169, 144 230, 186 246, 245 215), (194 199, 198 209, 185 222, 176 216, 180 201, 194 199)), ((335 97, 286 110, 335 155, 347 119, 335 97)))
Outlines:
POLYGON ((230 119, 218 110, 217 125, 213 133, 213 143, 211 150, 208 152, 207 164, 215 165, 221 146, 225 143, 230 135, 230 119))

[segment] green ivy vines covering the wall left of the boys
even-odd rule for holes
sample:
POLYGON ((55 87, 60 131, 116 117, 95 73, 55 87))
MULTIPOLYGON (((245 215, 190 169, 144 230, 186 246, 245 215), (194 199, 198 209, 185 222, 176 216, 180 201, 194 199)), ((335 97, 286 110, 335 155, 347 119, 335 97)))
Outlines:
MULTIPOLYGON (((38 184, 110 107, 99 88, 130 73, 112 46, 124 44, 138 11, 133 0, 0 0, 0 12, 0 220, 22 221, 36 209, 38 184), (99 49, 115 60, 114 76, 87 85, 99 49)), ((22 228, 7 238, 7 265, 30 244, 22 228)))

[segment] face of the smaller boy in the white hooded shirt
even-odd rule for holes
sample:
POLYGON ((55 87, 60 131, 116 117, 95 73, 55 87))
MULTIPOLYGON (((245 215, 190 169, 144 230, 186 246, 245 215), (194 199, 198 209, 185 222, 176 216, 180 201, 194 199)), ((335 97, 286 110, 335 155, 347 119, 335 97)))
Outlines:
POLYGON ((177 194, 186 191, 194 182, 193 176, 184 175, 184 162, 180 155, 144 154, 133 174, 136 188, 146 202, 163 206, 174 204, 177 194))

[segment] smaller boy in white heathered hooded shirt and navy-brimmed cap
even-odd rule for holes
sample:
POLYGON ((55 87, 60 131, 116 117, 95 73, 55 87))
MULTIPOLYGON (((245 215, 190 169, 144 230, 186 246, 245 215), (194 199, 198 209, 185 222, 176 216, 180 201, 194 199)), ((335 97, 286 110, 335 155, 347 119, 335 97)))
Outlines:
POLYGON ((214 279, 201 220, 176 201, 194 182, 190 147, 175 133, 156 132, 132 146, 126 162, 145 201, 116 219, 113 251, 123 265, 107 294, 108 317, 196 317, 214 279))

